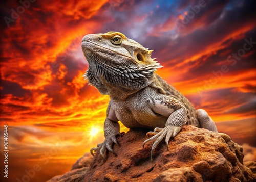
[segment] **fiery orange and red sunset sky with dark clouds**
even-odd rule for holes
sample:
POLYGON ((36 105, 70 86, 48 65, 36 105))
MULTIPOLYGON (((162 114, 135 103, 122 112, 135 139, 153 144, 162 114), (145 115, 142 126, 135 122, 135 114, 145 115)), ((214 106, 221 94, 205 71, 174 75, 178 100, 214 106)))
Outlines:
POLYGON ((1 2, 1 181, 35 166, 46 181, 104 140, 109 96, 81 77, 81 39, 109 31, 154 49, 157 74, 256 160, 255 1, 23 1, 1 2))

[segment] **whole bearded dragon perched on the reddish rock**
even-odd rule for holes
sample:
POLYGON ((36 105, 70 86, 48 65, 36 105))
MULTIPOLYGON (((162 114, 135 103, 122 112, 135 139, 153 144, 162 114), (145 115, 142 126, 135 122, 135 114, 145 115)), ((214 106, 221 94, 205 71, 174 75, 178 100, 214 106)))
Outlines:
POLYGON ((203 109, 195 110, 187 98, 155 73, 162 66, 151 58, 153 50, 128 39, 119 32, 88 34, 82 38, 82 51, 88 61, 83 75, 101 94, 110 96, 104 122, 103 143, 91 148, 105 159, 105 151, 113 152, 118 144, 122 122, 127 128, 153 129, 153 135, 142 144, 155 140, 156 146, 165 138, 167 150, 171 137, 175 137, 185 124, 217 132, 214 121, 203 109))

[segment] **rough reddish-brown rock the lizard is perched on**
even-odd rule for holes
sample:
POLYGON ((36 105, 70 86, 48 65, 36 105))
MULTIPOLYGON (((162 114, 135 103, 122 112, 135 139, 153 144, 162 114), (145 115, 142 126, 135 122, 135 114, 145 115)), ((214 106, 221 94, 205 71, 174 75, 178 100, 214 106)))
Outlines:
POLYGON ((162 141, 150 161, 153 142, 145 148, 146 129, 131 129, 118 138, 104 161, 97 153, 85 154, 70 172, 55 176, 55 181, 256 181, 251 169, 255 162, 243 165, 243 149, 226 134, 186 125, 169 141, 162 141), (90 166, 89 161, 92 160, 90 166))

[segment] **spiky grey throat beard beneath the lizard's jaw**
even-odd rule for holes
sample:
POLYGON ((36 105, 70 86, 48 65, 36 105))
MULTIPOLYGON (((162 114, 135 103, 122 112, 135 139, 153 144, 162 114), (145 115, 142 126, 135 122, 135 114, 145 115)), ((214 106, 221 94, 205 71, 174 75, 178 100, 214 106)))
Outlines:
POLYGON ((110 64, 108 60, 89 60, 91 61, 88 61, 89 67, 83 75, 84 80, 88 80, 89 84, 95 86, 102 94, 107 94, 102 91, 106 87, 105 82, 121 89, 140 90, 151 84, 154 71, 162 67, 158 63, 116 65, 110 64))

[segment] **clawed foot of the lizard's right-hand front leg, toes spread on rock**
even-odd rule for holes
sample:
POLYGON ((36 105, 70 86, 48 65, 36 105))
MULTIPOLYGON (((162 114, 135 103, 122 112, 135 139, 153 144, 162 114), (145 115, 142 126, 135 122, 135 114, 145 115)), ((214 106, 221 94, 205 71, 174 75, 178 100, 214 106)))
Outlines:
POLYGON ((170 139, 170 137, 176 136, 179 131, 180 131, 180 127, 179 126, 169 125, 169 126, 165 126, 164 128, 155 128, 154 132, 147 132, 146 136, 147 135, 154 135, 154 136, 149 138, 149 139, 146 139, 143 142, 143 144, 142 144, 143 148, 144 148, 144 145, 147 142, 156 139, 156 141, 153 143, 152 149, 151 149, 151 154, 150 154, 151 161, 153 161, 153 153, 155 152, 155 149, 156 149, 157 145, 163 140, 163 138, 165 137, 166 148, 169 151, 169 148, 168 148, 169 139, 170 139), (159 132, 156 133, 155 131, 159 131, 159 132))

